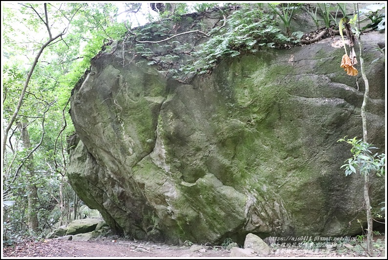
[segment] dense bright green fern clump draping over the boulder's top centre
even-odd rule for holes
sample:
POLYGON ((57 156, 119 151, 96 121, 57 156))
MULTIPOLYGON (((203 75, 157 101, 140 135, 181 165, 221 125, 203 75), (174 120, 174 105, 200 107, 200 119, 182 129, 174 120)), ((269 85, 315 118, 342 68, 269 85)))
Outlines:
POLYGON ((244 5, 231 15, 227 27, 221 28, 206 43, 198 46, 193 53, 194 63, 182 67, 181 71, 184 74, 205 74, 223 58, 254 53, 260 48, 272 48, 281 43, 290 43, 291 40, 276 27, 272 14, 255 5, 244 5))

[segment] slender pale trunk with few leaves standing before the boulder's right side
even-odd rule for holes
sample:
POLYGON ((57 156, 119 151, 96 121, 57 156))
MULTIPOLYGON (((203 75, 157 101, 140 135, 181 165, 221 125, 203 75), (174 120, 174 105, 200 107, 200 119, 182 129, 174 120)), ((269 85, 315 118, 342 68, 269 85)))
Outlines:
MULTIPOLYGON (((366 74, 364 71, 364 59, 363 59, 363 43, 361 42, 360 35, 358 36, 358 46, 360 48, 360 66, 361 66, 361 75, 363 77, 363 80, 365 82, 365 92, 364 92, 364 101, 363 105, 361 106, 361 118, 363 120, 363 139, 364 142, 367 142, 367 130, 366 130, 366 103, 369 99, 369 82, 366 78, 366 74)), ((364 200, 365 200, 365 207, 366 207, 366 221, 368 224, 367 234, 366 234, 366 248, 368 251, 368 254, 373 257, 373 247, 372 247, 372 240, 373 240, 373 222, 372 222, 372 214, 370 212, 370 201, 369 201, 369 176, 367 173, 364 175, 364 200)))

